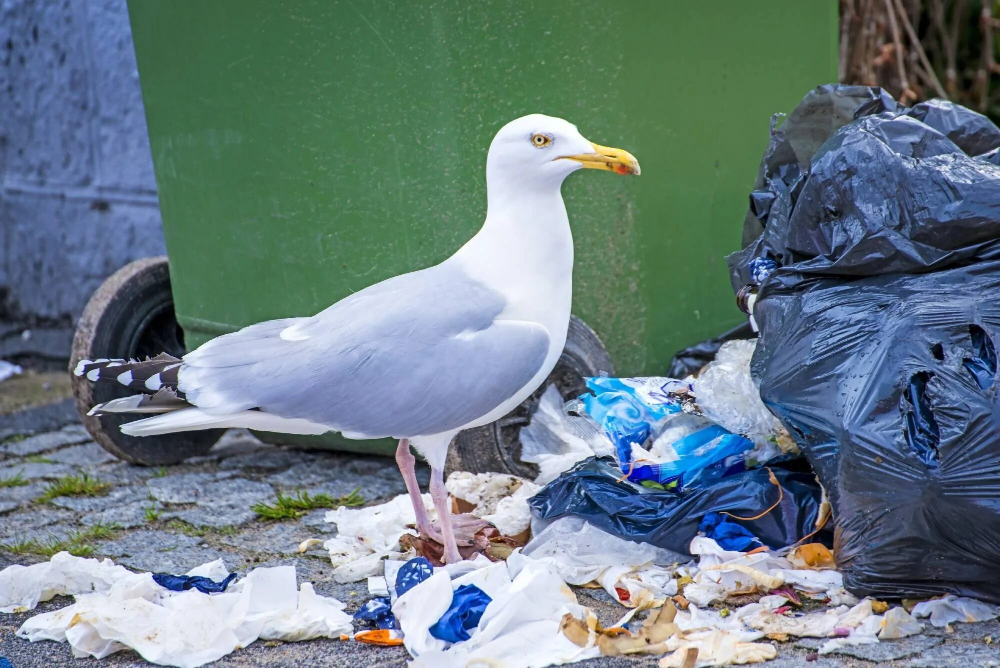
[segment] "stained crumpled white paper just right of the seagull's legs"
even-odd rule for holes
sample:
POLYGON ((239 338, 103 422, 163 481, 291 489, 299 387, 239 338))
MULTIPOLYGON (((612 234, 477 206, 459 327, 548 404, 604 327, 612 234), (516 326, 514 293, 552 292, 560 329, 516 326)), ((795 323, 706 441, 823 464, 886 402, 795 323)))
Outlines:
POLYGON ((503 473, 455 471, 444 483, 456 499, 475 506, 471 515, 495 526, 504 536, 516 536, 531 525, 528 499, 541 489, 538 485, 503 473))

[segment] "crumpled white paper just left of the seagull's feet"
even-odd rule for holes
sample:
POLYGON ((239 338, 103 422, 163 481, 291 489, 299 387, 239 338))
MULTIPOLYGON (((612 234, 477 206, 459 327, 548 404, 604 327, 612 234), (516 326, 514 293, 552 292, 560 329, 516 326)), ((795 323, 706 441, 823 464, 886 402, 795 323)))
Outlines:
MULTIPOLYGON (((430 494, 421 497, 431 520, 437 511, 430 494)), ((406 552, 399 544, 404 533, 416 535, 406 525, 417 521, 413 503, 406 494, 367 508, 341 506, 326 513, 326 521, 337 525, 337 535, 323 543, 330 553, 333 579, 340 583, 357 582, 383 574, 385 559, 399 559, 406 552)))

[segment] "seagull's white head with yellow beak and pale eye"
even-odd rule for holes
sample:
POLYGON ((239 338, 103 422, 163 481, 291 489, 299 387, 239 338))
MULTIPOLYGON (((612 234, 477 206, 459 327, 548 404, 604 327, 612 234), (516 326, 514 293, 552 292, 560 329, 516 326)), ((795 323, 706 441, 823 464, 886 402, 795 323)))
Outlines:
POLYGON ((500 178, 558 186, 578 169, 639 174, 639 162, 628 151, 588 141, 569 121, 544 114, 522 116, 500 128, 486 158, 487 182, 500 178))

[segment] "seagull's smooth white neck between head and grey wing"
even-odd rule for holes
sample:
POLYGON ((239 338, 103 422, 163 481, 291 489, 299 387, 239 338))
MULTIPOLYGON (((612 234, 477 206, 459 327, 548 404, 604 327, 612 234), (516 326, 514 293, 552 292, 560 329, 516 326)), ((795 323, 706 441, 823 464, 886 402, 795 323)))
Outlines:
MULTIPOLYGON (((547 327, 568 321, 573 283, 573 235, 555 183, 490 178, 482 229, 448 261, 501 292, 501 317, 547 327)), ((553 332, 554 333, 554 332, 553 332)))

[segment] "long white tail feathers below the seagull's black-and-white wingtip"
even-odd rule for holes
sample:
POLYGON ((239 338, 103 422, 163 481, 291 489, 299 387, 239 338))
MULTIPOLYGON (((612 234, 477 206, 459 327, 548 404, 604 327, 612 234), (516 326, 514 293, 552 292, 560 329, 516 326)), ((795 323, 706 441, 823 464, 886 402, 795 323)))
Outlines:
POLYGON ((177 431, 243 427, 258 431, 275 431, 282 434, 325 434, 333 431, 326 425, 303 420, 283 418, 263 411, 237 411, 235 413, 207 413, 196 407, 182 408, 165 415, 136 420, 123 424, 123 434, 129 436, 155 436, 177 431))

